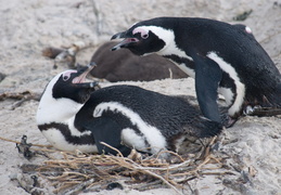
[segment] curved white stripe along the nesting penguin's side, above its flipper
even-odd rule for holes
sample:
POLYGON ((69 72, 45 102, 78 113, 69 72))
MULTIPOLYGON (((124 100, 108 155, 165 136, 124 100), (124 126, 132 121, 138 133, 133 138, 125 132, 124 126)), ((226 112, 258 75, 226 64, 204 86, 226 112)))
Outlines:
POLYGON ((166 148, 167 143, 165 136, 163 136, 158 129, 142 120, 138 113, 135 113, 129 107, 126 107, 118 102, 105 102, 95 107, 93 117, 102 116, 102 113, 105 110, 118 112, 126 116, 132 125, 137 126, 149 142, 152 153, 157 153, 159 150, 166 148))

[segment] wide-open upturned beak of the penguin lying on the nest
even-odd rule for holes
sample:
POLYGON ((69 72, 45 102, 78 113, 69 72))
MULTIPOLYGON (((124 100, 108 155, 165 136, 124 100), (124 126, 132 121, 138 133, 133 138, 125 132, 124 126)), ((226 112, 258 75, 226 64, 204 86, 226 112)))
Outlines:
POLYGON ((91 62, 88 64, 86 67, 82 67, 81 69, 78 70, 80 73, 79 76, 75 77, 73 79, 73 83, 80 87, 80 88, 94 88, 95 86, 99 84, 99 82, 86 82, 86 77, 87 75, 95 67, 95 63, 91 62))

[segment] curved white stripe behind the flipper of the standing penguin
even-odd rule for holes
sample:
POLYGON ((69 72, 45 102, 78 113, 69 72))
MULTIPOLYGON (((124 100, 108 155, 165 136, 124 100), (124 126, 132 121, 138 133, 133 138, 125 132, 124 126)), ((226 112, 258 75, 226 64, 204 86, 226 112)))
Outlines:
MULTIPOLYGON (((229 74, 229 76, 234 80, 234 83, 237 86, 237 96, 231 105, 231 107, 228 109, 228 113, 230 116, 233 116, 237 112, 241 109, 241 106, 244 102, 244 96, 245 96, 245 86, 240 81, 240 78, 238 77, 238 74, 235 69, 228 64, 227 62, 223 61, 223 58, 219 57, 216 52, 208 52, 207 56, 215 61, 219 67, 229 74)), ((227 96, 225 96, 227 99, 227 96)), ((227 101, 228 102, 228 101, 227 101)))

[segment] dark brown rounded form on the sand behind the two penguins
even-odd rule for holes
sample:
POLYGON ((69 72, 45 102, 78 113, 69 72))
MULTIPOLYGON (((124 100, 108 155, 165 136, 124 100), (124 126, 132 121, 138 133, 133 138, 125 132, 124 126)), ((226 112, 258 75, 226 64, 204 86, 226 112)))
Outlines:
POLYGON ((91 72, 93 77, 104 78, 110 82, 188 77, 174 63, 156 54, 138 56, 129 50, 111 52, 115 44, 114 41, 105 42, 94 52, 90 62, 99 66, 91 72))

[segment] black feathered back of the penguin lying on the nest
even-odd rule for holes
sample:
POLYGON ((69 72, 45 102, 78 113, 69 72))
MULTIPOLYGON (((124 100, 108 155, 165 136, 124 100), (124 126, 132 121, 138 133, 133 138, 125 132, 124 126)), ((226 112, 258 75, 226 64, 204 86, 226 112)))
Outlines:
MULTIPOLYGON (((161 129, 166 138, 187 132, 197 136, 217 134, 221 127, 212 128, 200 117, 201 112, 182 98, 168 96, 133 86, 113 86, 102 88, 92 93, 76 117, 76 125, 92 120, 93 110, 100 103, 118 102, 137 113, 146 123, 161 129), (215 132, 216 131, 216 132, 215 132)), ((128 121, 119 115, 116 120, 120 126, 128 126, 128 121)))

